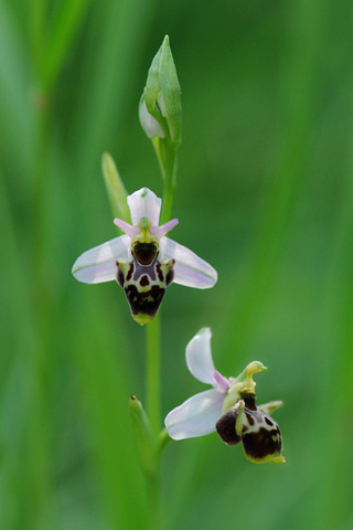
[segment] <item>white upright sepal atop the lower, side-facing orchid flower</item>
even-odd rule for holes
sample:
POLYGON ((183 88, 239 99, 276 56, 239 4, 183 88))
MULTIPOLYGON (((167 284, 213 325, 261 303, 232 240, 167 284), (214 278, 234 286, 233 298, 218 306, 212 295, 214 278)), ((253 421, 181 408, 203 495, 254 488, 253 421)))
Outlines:
POLYGON ((186 346, 186 364, 194 378, 203 383, 215 385, 211 329, 202 328, 186 346))

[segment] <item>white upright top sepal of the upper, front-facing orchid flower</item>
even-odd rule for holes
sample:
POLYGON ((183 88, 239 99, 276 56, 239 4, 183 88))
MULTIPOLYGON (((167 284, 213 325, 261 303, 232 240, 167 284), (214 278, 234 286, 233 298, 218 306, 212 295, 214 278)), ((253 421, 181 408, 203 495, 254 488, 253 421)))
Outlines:
POLYGON ((148 188, 140 190, 128 197, 131 221, 136 226, 141 218, 148 218, 152 226, 158 226, 159 214, 161 212, 162 200, 148 188))

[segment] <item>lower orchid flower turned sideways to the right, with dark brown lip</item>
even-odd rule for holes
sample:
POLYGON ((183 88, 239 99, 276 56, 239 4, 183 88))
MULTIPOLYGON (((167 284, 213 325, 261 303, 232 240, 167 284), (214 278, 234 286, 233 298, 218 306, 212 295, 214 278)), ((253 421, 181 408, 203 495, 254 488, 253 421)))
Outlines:
POLYGON ((193 395, 167 415, 164 423, 171 438, 216 431, 227 445, 242 442, 245 456, 252 462, 285 462, 281 433, 269 415, 282 402, 256 406, 253 375, 266 370, 261 362, 253 361, 237 378, 226 379, 214 368, 211 330, 203 328, 186 346, 186 364, 194 378, 213 389, 193 395))

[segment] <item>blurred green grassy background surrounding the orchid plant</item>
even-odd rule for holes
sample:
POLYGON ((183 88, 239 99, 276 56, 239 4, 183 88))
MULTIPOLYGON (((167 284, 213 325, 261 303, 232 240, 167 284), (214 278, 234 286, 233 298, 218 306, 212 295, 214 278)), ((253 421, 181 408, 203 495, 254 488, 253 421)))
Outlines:
POLYGON ((100 158, 162 194, 137 108, 164 34, 182 86, 172 237, 218 271, 162 306, 163 416, 254 359, 287 464, 215 435, 163 454, 163 529, 352 529, 352 2, 0 0, 0 528, 145 529, 128 416, 145 332, 71 267, 116 235, 100 158))

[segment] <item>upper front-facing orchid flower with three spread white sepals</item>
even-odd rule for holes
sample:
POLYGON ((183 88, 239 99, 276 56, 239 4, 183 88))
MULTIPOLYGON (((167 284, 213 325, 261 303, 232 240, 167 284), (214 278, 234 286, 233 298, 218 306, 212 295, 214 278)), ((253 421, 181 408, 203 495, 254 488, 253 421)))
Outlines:
POLYGON ((143 326, 158 312, 167 287, 174 282, 206 289, 216 271, 193 252, 165 237, 178 220, 159 226, 161 199, 148 188, 127 198, 132 225, 114 222, 126 235, 82 254, 72 273, 86 284, 117 280, 124 288, 133 319, 143 326))

